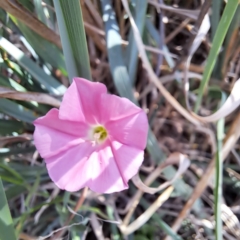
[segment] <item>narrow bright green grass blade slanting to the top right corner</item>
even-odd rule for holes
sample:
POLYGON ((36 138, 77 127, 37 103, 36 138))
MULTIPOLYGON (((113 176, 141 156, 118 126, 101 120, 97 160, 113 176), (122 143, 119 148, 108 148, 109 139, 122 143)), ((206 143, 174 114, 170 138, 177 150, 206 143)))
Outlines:
POLYGON ((239 4, 239 1, 237 0, 227 1, 226 7, 224 9, 223 15, 221 17, 220 23, 218 25, 216 34, 213 39, 212 48, 207 58, 206 67, 203 73, 203 79, 200 84, 199 94, 198 94, 196 105, 194 108, 195 112, 199 110, 204 91, 208 85, 209 78, 211 76, 211 73, 213 71, 214 65, 217 60, 217 56, 219 54, 220 48, 222 46, 223 40, 226 36, 226 33, 228 31, 232 18, 235 14, 235 11, 237 10, 238 4, 239 4))

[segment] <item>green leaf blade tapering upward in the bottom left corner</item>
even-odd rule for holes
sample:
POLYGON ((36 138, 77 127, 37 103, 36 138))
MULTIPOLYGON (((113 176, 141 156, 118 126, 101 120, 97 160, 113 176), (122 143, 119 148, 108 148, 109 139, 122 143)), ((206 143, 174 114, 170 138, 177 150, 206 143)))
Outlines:
POLYGON ((11 213, 0 178, 0 240, 16 240, 11 213))

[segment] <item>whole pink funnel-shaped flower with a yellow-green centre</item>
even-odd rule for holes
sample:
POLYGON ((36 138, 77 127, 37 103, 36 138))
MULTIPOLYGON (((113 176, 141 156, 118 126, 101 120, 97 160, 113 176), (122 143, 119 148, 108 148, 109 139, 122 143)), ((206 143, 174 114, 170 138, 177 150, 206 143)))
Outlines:
POLYGON ((61 189, 118 192, 142 164, 146 114, 128 99, 107 94, 101 83, 75 78, 60 109, 34 125, 35 145, 61 189))

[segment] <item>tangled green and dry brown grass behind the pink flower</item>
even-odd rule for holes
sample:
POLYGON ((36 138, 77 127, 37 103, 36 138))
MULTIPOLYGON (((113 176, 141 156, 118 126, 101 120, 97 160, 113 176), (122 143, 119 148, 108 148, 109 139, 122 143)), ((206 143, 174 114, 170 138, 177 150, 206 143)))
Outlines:
MULTIPOLYGON (((239 3, 128 1, 151 69, 139 58, 123 3, 0 0, 0 240, 240 238, 239 108, 199 126, 177 107, 206 116, 226 101, 240 75, 239 3), (169 97, 153 84, 152 69, 169 97), (130 183, 111 195, 70 194, 51 182, 32 122, 59 107, 74 76, 102 82, 146 110, 142 179, 170 153, 189 156, 174 189, 150 195, 130 183)), ((176 167, 151 186, 171 179, 176 167)))

